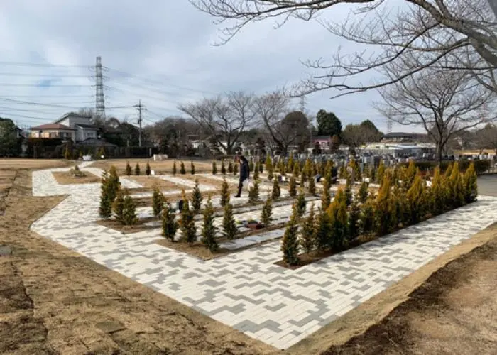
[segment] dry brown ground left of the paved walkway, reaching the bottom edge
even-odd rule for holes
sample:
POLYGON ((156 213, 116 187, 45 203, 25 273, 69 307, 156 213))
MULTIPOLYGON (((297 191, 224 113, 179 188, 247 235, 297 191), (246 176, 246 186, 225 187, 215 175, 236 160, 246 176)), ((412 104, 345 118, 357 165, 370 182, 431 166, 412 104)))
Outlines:
POLYGON ((20 174, 0 217, 0 354, 275 354, 30 231, 63 197, 32 197, 20 174))

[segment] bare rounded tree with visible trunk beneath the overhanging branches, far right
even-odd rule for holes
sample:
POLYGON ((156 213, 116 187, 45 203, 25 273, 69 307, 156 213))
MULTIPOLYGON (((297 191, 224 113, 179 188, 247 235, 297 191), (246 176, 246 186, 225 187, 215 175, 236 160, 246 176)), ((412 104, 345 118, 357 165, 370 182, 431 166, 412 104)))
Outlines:
MULTIPOLYGON (((386 74, 400 75, 393 65, 386 74)), ((399 124, 421 125, 436 143, 439 161, 451 138, 496 119, 496 95, 467 72, 427 69, 378 91, 385 101, 376 104, 378 111, 399 124)))

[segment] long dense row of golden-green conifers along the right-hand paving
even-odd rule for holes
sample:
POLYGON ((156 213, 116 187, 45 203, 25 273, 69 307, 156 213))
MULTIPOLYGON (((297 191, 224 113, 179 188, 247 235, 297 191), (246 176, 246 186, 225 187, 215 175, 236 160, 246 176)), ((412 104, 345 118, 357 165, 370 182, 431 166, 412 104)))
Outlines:
POLYGON ((281 244, 283 260, 288 265, 297 265, 301 251, 342 251, 361 238, 383 236, 474 202, 476 195, 473 163, 464 175, 459 172, 457 162, 449 165, 443 175, 436 168, 430 187, 422 180, 414 162, 408 168, 386 169, 377 195, 368 192, 367 182, 362 182, 356 196, 340 189, 333 202, 327 205, 322 200, 317 214, 311 207, 303 221, 294 204, 281 244))

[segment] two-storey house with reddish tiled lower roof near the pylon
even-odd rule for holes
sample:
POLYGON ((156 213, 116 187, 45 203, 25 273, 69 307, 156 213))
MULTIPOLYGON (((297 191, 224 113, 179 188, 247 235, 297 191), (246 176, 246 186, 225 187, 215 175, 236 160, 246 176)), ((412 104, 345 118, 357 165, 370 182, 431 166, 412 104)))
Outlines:
POLYGON ((82 142, 97 138, 98 128, 91 122, 91 116, 69 112, 60 119, 40 126, 31 127, 30 136, 33 138, 72 139, 82 142))

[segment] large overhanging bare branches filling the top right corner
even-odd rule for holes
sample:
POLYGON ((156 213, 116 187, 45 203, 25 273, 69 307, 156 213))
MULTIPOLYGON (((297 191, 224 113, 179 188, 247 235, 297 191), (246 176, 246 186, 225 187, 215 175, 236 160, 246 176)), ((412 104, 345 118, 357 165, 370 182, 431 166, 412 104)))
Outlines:
MULTIPOLYGON (((339 4, 356 4, 343 23, 320 18, 332 34, 366 50, 343 55, 340 50, 331 63, 324 60, 304 64, 316 74, 290 91, 295 96, 325 89, 335 89, 339 97, 367 89, 378 89, 410 77, 430 67, 464 70, 473 75, 486 89, 497 92, 497 22, 487 0, 405 0, 393 13, 384 0, 190 0, 205 13, 226 24, 221 44, 231 40, 249 23, 280 18, 278 27, 289 18, 310 21, 323 13, 333 13, 339 4), (327 12, 329 11, 329 12, 327 12), (364 75, 376 72, 390 63, 414 58, 416 65, 404 67, 395 80, 370 84, 364 75), (441 63, 440 60, 444 59, 441 63), (352 83, 347 80, 353 81, 352 83)), ((369 77, 371 78, 371 76, 369 77)))

